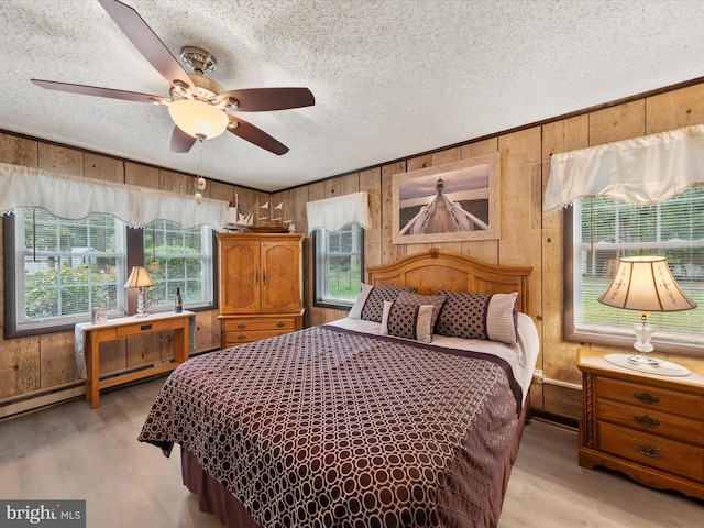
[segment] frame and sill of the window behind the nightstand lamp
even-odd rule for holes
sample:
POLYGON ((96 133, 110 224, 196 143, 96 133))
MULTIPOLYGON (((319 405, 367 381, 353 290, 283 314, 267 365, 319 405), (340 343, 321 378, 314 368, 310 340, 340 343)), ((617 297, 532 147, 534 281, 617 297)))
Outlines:
MULTIPOLYGON (((565 341, 576 341, 580 343, 593 343, 635 350, 632 345, 636 341, 636 336, 630 326, 625 324, 623 327, 616 328, 603 326, 600 327, 598 324, 592 323, 584 324, 584 327, 588 328, 580 329, 574 321, 574 294, 576 287, 576 270, 574 258, 578 253, 576 249, 574 248, 575 213, 578 213, 578 208, 574 205, 570 205, 563 209, 563 338, 565 341)), ((640 244, 637 245, 638 248, 640 248, 640 244)), ((700 307, 696 309, 702 309, 702 305, 700 304, 700 307)), ((636 322, 635 318, 634 322, 636 322)), ((692 344, 688 344, 684 340, 668 340, 667 329, 663 329, 663 331, 660 332, 658 332, 658 330, 659 329, 656 328, 656 333, 652 338, 652 343, 656 345, 656 353, 660 352, 704 358, 704 351, 702 350, 701 342, 693 342, 692 344)))

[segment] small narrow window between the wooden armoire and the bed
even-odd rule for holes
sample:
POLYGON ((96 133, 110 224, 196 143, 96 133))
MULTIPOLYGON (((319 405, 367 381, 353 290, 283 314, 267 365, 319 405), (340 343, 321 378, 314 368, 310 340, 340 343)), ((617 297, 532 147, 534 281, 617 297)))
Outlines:
POLYGON ((350 308, 354 304, 364 270, 363 233, 358 223, 333 233, 314 232, 316 306, 350 308))

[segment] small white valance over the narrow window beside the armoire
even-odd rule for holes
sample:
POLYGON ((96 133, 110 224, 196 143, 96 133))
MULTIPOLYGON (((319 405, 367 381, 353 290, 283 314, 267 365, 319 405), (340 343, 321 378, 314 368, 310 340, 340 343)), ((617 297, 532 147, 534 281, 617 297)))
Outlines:
POLYGON ((340 231, 350 222, 356 222, 362 229, 372 229, 369 193, 360 191, 336 196, 306 204, 308 233, 322 228, 329 232, 340 231))

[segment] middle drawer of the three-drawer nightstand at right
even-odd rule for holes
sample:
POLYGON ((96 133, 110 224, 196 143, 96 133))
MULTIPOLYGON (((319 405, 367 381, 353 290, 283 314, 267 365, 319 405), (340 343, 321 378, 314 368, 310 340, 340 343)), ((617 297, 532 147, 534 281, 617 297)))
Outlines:
POLYGON ((704 446, 704 421, 601 398, 596 400, 596 405, 600 420, 648 435, 704 446))

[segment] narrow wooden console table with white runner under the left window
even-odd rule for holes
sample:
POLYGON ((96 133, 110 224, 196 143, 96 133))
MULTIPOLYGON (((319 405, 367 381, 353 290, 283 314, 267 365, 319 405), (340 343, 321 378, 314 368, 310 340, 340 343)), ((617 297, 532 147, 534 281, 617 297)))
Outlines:
POLYGON ((86 399, 95 409, 100 405, 100 389, 173 371, 188 360, 189 326, 195 314, 166 312, 147 317, 122 317, 98 323, 76 324, 76 362, 86 378, 86 399), (174 361, 100 381, 100 343, 143 333, 174 331, 174 361), (85 358, 85 362, 84 362, 85 358))

